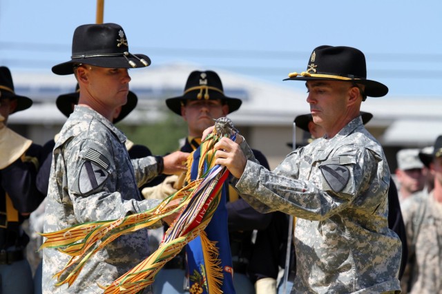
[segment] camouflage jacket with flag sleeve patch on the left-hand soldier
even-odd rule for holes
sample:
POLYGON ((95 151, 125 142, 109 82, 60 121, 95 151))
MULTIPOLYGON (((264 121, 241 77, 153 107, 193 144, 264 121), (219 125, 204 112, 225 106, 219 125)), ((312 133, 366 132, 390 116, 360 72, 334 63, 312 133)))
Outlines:
MULTIPOLYGON (((157 176, 155 158, 130 160, 125 140, 126 136, 97 112, 75 107, 53 151, 45 232, 120 218, 160 202, 142 200, 137 189, 157 176)), ((52 276, 64 267, 68 256, 57 249, 44 249, 44 293, 103 293, 97 284, 111 284, 148 255, 146 230, 122 235, 94 255, 75 283, 66 288, 55 287, 52 276)))

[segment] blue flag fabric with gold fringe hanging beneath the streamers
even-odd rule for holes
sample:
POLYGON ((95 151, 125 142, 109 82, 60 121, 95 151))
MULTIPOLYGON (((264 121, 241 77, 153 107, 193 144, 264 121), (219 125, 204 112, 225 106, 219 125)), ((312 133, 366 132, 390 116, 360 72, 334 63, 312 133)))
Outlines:
MULTIPOLYGON (((201 159, 200 155, 200 147, 198 147, 198 149, 193 153, 191 180, 195 180, 198 176, 198 165, 201 159)), ((206 169, 207 166, 205 165, 204 171, 206 171, 206 169)), ((227 185, 229 184, 226 181, 221 189, 220 203, 218 204, 215 213, 213 213, 211 222, 209 222, 204 231, 206 231, 207 238, 209 238, 209 240, 216 242, 216 246, 218 247, 218 251, 220 253, 219 258, 221 260, 223 275, 221 291, 223 293, 235 294, 235 288, 233 288, 233 266, 229 244, 229 231, 227 229, 227 185)), ((186 254, 187 266, 189 270, 190 293, 202 288, 203 294, 209 294, 206 284, 206 269, 204 265, 204 256, 202 253, 200 237, 195 238, 186 245, 186 254)), ((195 291, 195 293, 197 292, 195 291)))

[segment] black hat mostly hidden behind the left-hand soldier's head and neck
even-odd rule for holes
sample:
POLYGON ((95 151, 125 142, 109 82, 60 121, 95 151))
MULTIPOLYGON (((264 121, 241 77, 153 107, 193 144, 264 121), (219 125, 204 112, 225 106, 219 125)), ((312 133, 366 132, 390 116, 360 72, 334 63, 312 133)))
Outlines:
MULTIPOLYGON (((66 117, 69 117, 70 114, 72 114, 74 111, 72 105, 78 104, 79 96, 80 96, 80 90, 77 84, 77 87, 75 87, 75 92, 62 94, 58 96, 57 101, 55 101, 55 104, 57 105, 57 108, 62 114, 64 114, 66 117)), ((113 123, 118 123, 128 114, 130 114, 131 111, 135 108, 135 106, 137 106, 137 102, 138 102, 137 95, 135 95, 134 92, 129 91, 129 93, 127 94, 127 103, 122 106, 122 111, 119 112, 119 115, 117 116, 117 118, 113 120, 113 123)))

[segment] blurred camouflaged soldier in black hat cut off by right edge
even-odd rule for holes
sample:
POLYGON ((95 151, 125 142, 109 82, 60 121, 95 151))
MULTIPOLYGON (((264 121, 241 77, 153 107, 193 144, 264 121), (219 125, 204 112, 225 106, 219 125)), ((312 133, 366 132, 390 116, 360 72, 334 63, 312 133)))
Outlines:
POLYGON ((430 170, 434 189, 401 203, 409 252, 403 293, 442 293, 442 136, 434 143, 430 170))

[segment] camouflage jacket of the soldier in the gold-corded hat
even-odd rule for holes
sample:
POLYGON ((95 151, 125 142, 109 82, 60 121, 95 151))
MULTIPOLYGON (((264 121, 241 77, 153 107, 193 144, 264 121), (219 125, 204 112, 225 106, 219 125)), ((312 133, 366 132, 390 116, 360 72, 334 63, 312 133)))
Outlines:
MULTIPOLYGON (((249 154, 247 143, 242 144, 249 154)), ((399 291, 401 241, 388 229, 381 145, 355 118, 267 171, 249 160, 236 188, 259 211, 296 216, 291 293, 399 291)))

